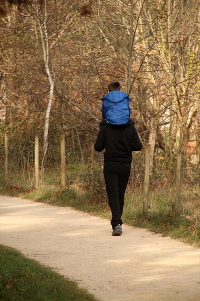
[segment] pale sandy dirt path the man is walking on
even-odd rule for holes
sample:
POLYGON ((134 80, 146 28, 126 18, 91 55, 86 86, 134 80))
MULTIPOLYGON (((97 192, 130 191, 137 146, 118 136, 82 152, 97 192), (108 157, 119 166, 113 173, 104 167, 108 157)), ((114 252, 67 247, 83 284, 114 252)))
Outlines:
POLYGON ((0 243, 102 301, 200 300, 200 249, 125 225, 114 237, 108 220, 68 207, 1 196, 0 243))

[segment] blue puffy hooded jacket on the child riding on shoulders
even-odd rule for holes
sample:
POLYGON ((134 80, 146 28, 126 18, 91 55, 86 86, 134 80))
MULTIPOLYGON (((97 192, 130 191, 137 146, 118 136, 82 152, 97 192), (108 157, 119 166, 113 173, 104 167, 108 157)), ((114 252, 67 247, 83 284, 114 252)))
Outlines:
POLYGON ((102 103, 102 119, 111 124, 125 124, 130 118, 129 102, 131 99, 121 91, 111 91, 100 99, 102 103))

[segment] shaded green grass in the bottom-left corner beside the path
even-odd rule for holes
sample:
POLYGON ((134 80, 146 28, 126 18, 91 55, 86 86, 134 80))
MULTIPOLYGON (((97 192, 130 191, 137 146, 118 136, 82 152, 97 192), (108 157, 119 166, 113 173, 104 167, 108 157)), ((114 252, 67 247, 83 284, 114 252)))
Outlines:
POLYGON ((0 245, 0 300, 95 301, 85 289, 51 268, 0 245))

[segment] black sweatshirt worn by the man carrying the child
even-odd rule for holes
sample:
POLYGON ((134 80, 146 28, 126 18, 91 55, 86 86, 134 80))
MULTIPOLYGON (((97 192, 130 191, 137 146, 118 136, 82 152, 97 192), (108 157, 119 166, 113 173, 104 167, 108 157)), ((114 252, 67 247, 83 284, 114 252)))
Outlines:
POLYGON ((106 120, 100 122, 94 149, 101 152, 105 148, 104 161, 131 162, 132 151, 142 149, 134 122, 129 120, 124 125, 113 125, 106 120))

